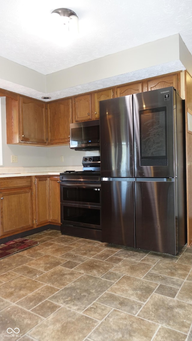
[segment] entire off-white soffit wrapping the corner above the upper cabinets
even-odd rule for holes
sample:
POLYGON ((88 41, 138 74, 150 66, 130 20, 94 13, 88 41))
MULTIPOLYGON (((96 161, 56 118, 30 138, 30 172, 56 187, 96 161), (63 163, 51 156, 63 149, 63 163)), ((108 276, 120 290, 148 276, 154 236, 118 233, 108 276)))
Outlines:
POLYGON ((41 100, 70 97, 187 69, 192 55, 179 33, 43 75, 0 57, 0 87, 41 100))

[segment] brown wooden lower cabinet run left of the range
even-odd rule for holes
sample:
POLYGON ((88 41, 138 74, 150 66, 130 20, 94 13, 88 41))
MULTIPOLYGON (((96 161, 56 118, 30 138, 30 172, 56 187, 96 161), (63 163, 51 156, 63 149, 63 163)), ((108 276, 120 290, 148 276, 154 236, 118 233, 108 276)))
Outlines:
POLYGON ((0 237, 60 225, 59 176, 0 178, 0 237))

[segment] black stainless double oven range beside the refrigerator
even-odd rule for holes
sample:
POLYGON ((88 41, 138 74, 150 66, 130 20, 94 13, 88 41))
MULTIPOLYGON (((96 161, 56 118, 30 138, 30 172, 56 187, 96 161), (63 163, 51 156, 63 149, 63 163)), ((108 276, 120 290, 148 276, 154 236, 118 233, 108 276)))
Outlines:
POLYGON ((101 240, 100 156, 83 157, 83 170, 60 173, 61 233, 101 240))

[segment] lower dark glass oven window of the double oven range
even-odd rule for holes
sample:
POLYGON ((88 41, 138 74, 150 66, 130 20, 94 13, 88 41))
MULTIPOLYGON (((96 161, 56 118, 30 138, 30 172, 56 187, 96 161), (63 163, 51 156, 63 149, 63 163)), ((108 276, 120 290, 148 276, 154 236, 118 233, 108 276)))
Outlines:
MULTIPOLYGON (((100 225, 100 210, 82 207, 63 206, 63 221, 77 225, 100 225)), ((89 226, 91 227, 91 226, 89 226)))

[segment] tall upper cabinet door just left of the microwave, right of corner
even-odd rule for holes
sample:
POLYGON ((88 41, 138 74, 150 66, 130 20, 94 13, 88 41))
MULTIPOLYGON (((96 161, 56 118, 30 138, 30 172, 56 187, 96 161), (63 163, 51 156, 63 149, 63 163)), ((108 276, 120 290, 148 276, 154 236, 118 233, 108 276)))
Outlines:
POLYGON ((48 144, 70 142, 71 99, 47 104, 48 144))

